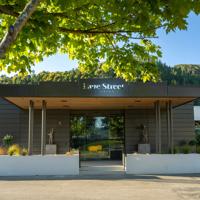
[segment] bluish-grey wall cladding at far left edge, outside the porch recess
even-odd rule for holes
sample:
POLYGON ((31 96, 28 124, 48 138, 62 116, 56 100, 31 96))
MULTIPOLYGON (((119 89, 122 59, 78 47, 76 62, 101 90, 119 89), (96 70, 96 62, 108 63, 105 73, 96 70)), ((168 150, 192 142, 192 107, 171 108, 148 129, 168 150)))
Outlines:
POLYGON ((14 142, 20 142, 20 109, 0 98, 0 143, 6 134, 14 136, 14 142))

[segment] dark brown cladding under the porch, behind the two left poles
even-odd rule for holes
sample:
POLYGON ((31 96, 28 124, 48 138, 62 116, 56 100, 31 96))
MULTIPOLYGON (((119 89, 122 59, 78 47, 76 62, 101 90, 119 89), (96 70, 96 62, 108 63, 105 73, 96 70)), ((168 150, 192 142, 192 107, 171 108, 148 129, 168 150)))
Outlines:
MULTIPOLYGON (((33 152, 41 153, 41 110, 34 110, 34 132, 33 132, 33 152)), ((57 153, 65 153, 69 150, 69 111, 48 110, 47 109, 47 135, 54 129, 54 143, 57 144, 57 153)), ((28 141, 28 110, 21 113, 21 144, 27 147, 28 141)))

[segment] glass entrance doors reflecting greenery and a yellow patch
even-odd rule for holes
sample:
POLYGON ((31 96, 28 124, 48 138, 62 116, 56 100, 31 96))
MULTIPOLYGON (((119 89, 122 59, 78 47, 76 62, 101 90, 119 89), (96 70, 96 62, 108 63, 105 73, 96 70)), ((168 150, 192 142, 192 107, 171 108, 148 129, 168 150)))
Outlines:
POLYGON ((121 160, 124 148, 124 118, 79 116, 70 118, 71 148, 81 160, 121 160))

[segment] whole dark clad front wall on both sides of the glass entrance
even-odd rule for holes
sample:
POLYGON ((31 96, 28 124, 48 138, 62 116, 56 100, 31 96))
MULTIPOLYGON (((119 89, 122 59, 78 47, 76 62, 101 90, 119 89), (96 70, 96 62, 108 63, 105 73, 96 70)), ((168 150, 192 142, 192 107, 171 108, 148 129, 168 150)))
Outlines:
MULTIPOLYGON (((155 152, 155 113, 153 109, 133 109, 122 111, 68 111, 47 110, 47 133, 54 128, 54 141, 58 145, 58 153, 65 153, 70 148, 70 114, 122 114, 125 116, 125 148, 127 153, 137 151, 139 131, 137 127, 144 124, 148 127, 152 152, 155 152)), ((194 139, 193 104, 174 109, 174 143, 180 140, 194 139)), ((161 111, 162 151, 168 152, 166 113, 161 111)), ((21 110, 4 99, 0 99, 0 143, 5 134, 12 134, 14 142, 27 147, 28 141, 28 110, 21 110)), ((46 137, 48 142, 48 135, 46 137)), ((41 146, 41 110, 34 112, 33 151, 40 153, 41 146)))

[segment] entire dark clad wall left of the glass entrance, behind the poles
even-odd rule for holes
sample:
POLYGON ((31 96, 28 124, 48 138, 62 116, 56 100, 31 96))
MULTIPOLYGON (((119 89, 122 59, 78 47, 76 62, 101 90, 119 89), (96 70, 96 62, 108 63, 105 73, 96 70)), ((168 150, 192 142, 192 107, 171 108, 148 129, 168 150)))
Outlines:
MULTIPOLYGON (((55 131, 54 142, 59 153, 69 150, 69 111, 47 110, 47 134, 55 131)), ((4 99, 0 99, 0 144, 6 134, 14 136, 14 143, 27 148, 28 110, 21 110, 4 99)), ((46 137, 48 143, 48 135, 46 137)), ((34 111, 33 152, 39 154, 41 149, 41 110, 34 111)))

